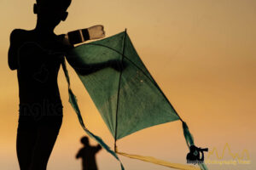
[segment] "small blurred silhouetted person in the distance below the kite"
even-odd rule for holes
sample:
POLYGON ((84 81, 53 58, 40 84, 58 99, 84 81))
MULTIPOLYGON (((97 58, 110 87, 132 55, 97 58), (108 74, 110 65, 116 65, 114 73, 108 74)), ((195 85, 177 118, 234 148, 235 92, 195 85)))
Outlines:
POLYGON ((76 158, 82 158, 83 170, 97 170, 96 153, 102 149, 102 146, 100 144, 90 146, 89 139, 86 136, 81 139, 81 143, 84 144, 84 147, 79 150, 76 158))

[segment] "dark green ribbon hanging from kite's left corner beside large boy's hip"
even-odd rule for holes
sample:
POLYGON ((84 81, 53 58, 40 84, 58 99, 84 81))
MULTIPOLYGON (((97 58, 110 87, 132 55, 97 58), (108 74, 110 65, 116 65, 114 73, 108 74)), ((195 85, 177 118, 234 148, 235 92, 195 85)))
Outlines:
POLYGON ((110 149, 108 144, 105 144, 105 142, 100 137, 96 136, 94 133, 91 133, 85 127, 83 118, 82 118, 80 110, 79 110, 79 105, 78 105, 76 96, 73 94, 73 92, 70 88, 70 79, 69 79, 69 76, 68 76, 68 71, 67 71, 67 65, 66 65, 66 62, 65 62, 65 58, 61 62, 61 65, 62 65, 62 69, 64 71, 64 74, 65 74, 65 77, 66 77, 66 80, 67 80, 67 84, 68 84, 69 103, 72 105, 73 110, 77 113, 77 116, 79 117, 79 122, 80 122, 81 126, 84 128, 85 133, 87 133, 90 136, 90 138, 95 139, 98 144, 101 144, 102 147, 105 150, 108 151, 108 153, 110 153, 112 156, 114 156, 119 161, 121 169, 125 170, 125 167, 123 166, 122 162, 119 160, 119 157, 117 156, 117 154, 113 150, 110 149))

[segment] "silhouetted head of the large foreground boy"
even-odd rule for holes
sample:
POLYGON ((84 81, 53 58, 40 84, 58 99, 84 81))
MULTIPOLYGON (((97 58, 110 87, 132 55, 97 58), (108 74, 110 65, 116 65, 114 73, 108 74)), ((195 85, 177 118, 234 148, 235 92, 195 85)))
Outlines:
POLYGON ((67 19, 67 8, 71 0, 36 0, 34 14, 38 14, 38 21, 49 26, 57 26, 61 20, 67 19))

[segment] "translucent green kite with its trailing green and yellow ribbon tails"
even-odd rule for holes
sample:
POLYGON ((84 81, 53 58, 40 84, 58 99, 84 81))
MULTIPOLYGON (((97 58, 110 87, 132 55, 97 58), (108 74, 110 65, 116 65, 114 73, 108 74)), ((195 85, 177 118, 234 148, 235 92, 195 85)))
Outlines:
MULTIPOLYGON (((112 133, 115 141, 115 152, 84 126, 79 105, 70 88, 67 68, 63 62, 62 68, 68 82, 69 102, 76 111, 85 132, 96 139, 99 144, 102 144, 116 159, 119 160, 116 153, 122 156, 132 156, 116 150, 118 139, 143 128, 166 122, 180 120, 183 123, 183 134, 188 146, 194 144, 188 126, 177 115, 165 94, 143 65, 143 61, 138 56, 126 31, 75 47, 66 54, 66 58, 83 82, 90 98, 94 101, 102 119, 112 133)), ((135 159, 139 159, 138 157, 133 156, 135 159)), ((146 157, 140 156, 140 160, 145 161, 147 159, 156 163, 155 158, 151 159, 152 157, 150 157, 148 159, 146 157)), ((163 163, 159 160, 157 162, 157 164, 166 166, 166 162, 163 163)), ((124 168, 122 163, 121 167, 124 168)), ((172 167, 195 169, 195 167, 188 165, 186 168, 179 168, 177 164, 172 164, 172 167)), ((200 167, 204 170, 207 169, 205 165, 200 165, 200 167)))

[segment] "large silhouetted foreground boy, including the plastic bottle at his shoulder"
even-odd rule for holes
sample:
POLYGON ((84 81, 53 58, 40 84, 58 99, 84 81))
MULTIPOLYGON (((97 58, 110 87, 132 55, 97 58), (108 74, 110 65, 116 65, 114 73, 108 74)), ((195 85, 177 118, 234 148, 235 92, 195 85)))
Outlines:
POLYGON ((55 35, 55 26, 66 20, 70 3, 71 0, 37 0, 33 8, 37 14, 35 29, 15 29, 10 35, 9 68, 17 70, 19 82, 16 150, 20 170, 47 167, 62 123, 57 76, 63 55, 75 43, 104 37, 103 26, 55 35))

